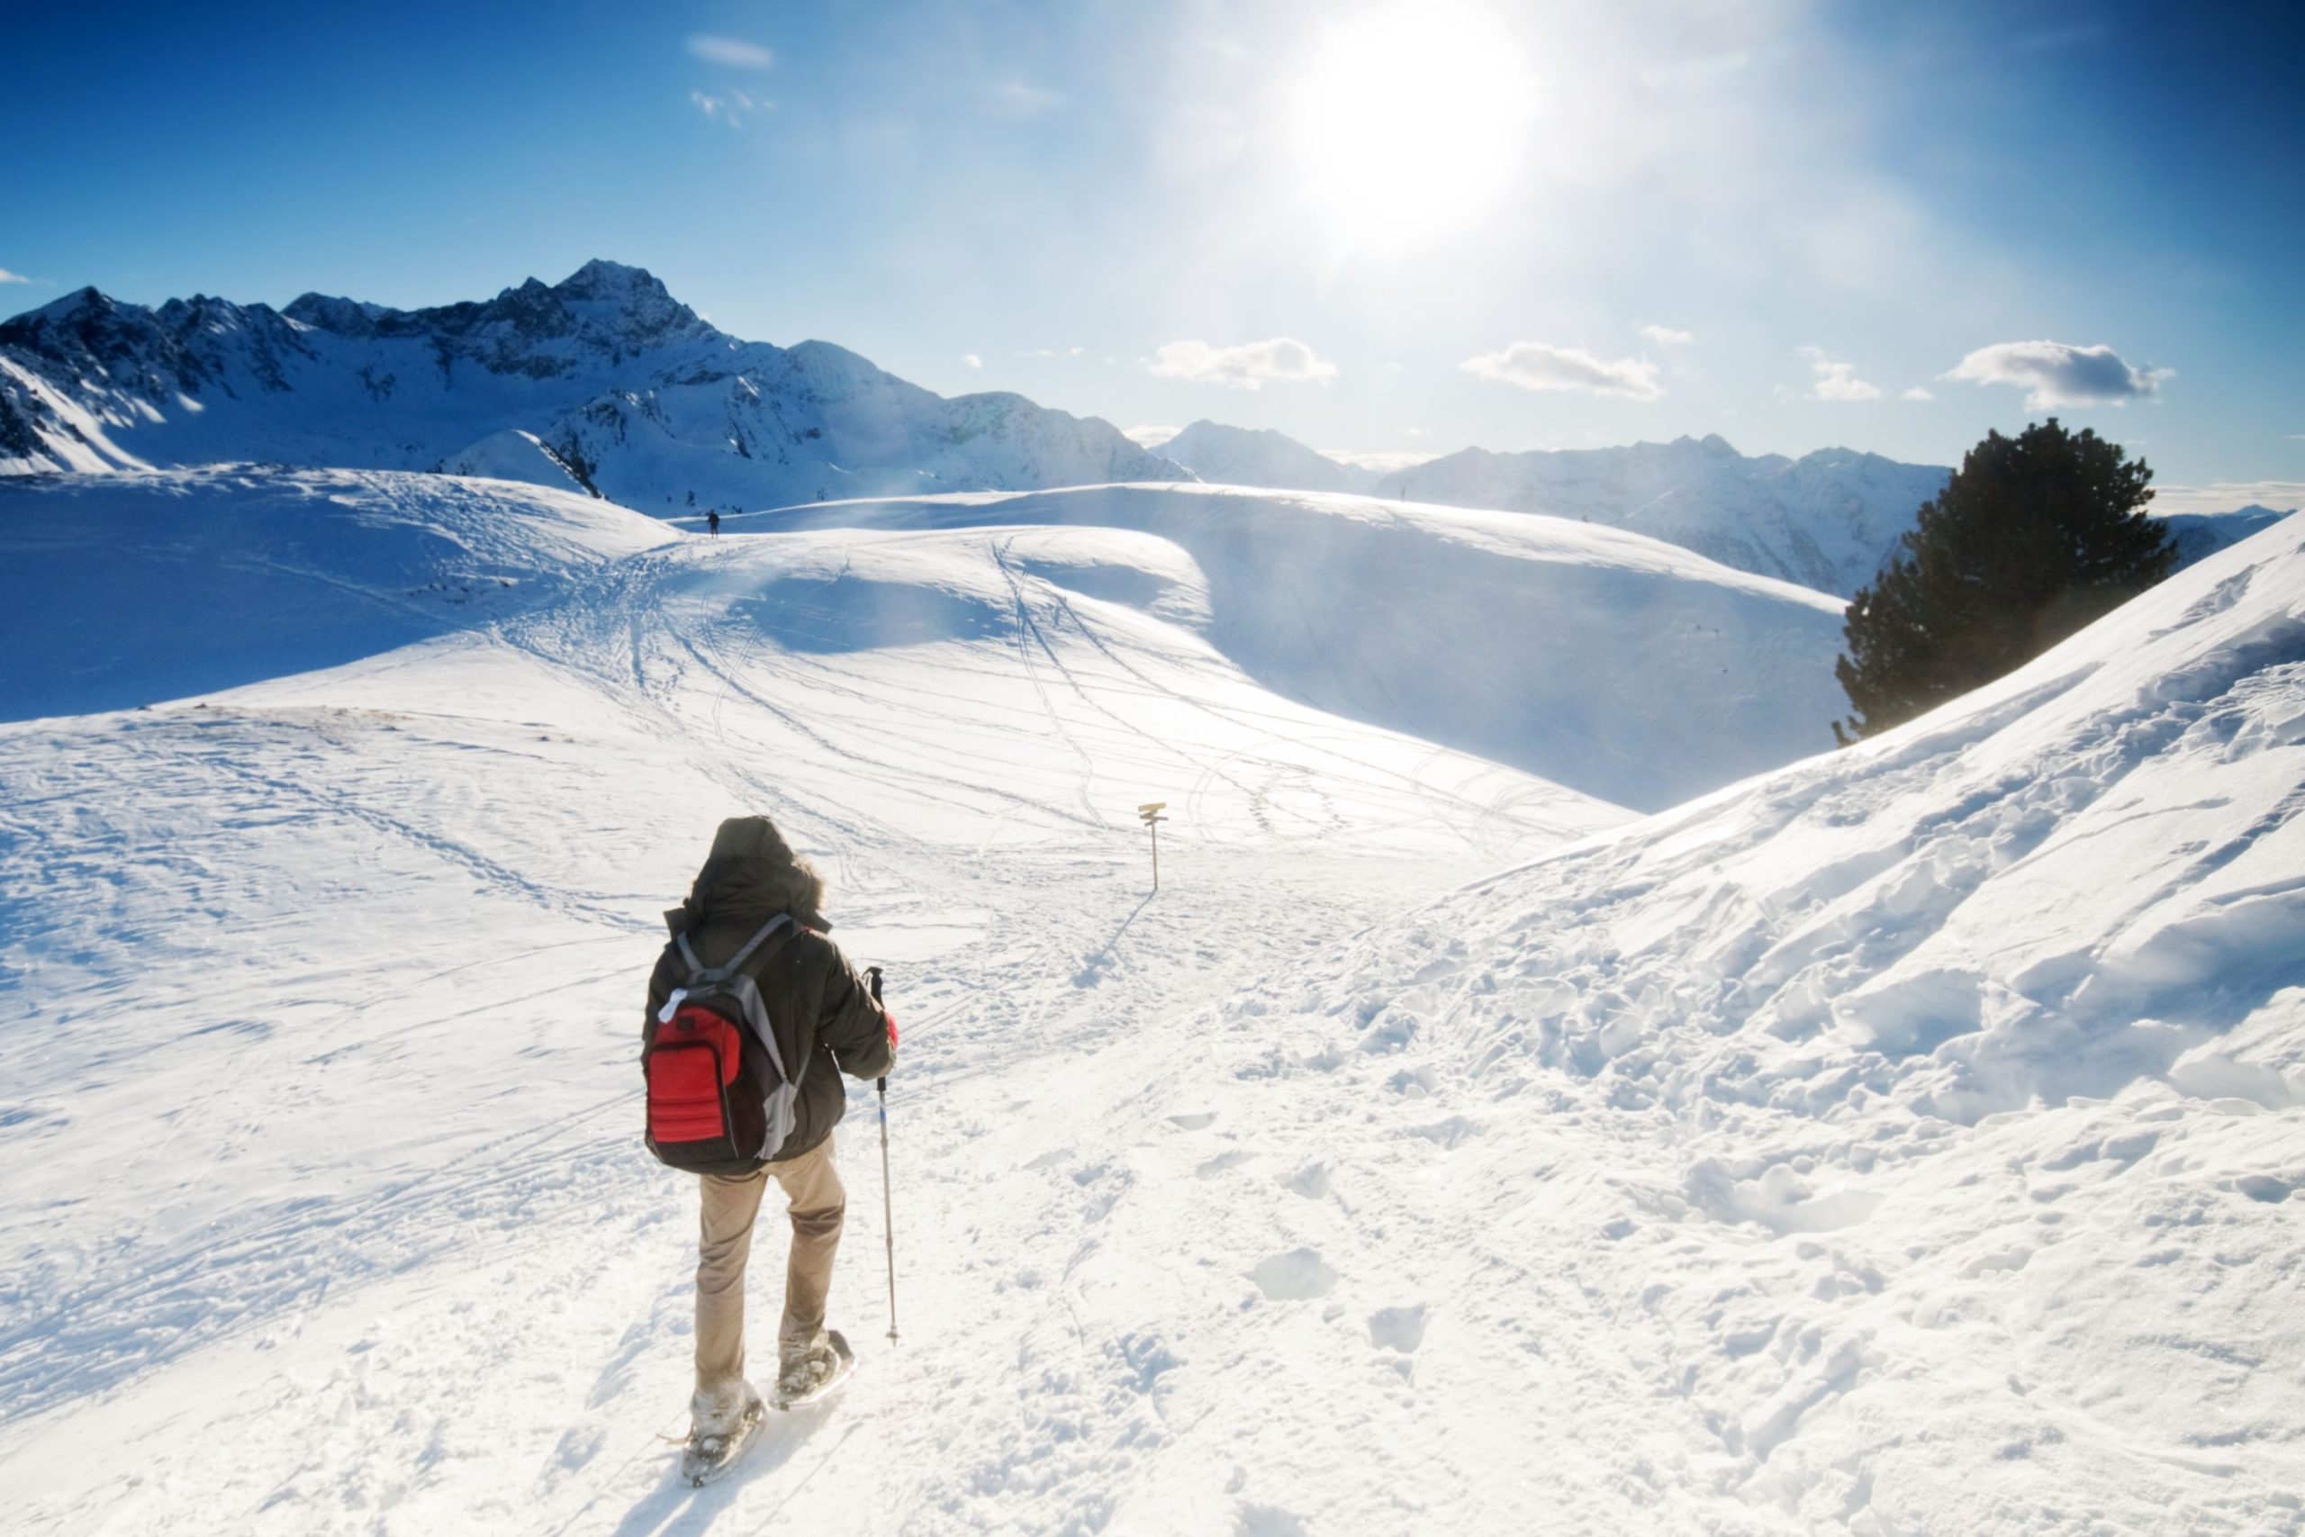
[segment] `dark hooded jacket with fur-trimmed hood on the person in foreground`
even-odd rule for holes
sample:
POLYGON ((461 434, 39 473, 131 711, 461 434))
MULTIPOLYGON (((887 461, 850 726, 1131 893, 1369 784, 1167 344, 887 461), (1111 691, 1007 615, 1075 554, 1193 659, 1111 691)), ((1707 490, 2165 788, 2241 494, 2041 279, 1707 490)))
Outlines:
MULTIPOLYGON (((825 938, 823 880, 793 860, 791 846, 765 816, 733 816, 719 825, 712 855, 696 873, 689 899, 664 915, 673 936, 687 933, 696 959, 724 966, 761 924, 791 913, 804 926, 777 954, 754 968, 761 1005, 777 1032, 786 1062, 807 1062, 793 1104, 793 1134, 779 1150, 798 1159, 839 1125, 848 1108, 841 1074, 881 1078, 897 1060, 887 1039, 887 1014, 874 1002, 864 977, 825 938)), ((774 945, 774 940, 770 940, 774 945)), ((678 945, 666 945, 648 979, 648 1019, 657 1016, 689 966, 678 945)), ((798 1067, 795 1067, 798 1072, 798 1067)))

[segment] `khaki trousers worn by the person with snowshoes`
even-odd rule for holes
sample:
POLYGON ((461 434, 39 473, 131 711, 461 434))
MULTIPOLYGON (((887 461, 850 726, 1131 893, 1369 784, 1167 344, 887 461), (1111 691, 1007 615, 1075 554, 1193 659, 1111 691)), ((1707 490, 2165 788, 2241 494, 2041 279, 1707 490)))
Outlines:
POLYGON ((825 1293, 832 1288, 832 1256, 841 1247, 848 1191, 832 1166, 827 1136, 798 1159, 768 1164, 731 1180, 703 1178, 703 1233, 696 1244, 696 1392, 719 1394, 745 1376, 745 1260, 751 1256, 751 1221, 761 1212, 768 1180, 784 1187, 793 1219, 793 1256, 784 1270, 784 1325, 777 1343, 809 1343, 825 1327, 825 1293))

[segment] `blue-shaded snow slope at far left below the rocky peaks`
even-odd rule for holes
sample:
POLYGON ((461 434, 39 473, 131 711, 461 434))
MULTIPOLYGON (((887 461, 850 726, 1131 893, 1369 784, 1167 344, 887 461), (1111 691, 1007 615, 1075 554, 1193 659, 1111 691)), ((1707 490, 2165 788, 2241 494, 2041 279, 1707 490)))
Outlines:
POLYGON ((337 666, 675 535, 574 486, 376 470, 0 479, 0 719, 337 666))

